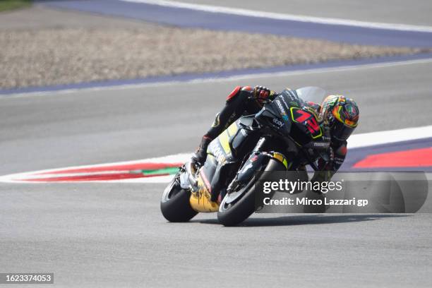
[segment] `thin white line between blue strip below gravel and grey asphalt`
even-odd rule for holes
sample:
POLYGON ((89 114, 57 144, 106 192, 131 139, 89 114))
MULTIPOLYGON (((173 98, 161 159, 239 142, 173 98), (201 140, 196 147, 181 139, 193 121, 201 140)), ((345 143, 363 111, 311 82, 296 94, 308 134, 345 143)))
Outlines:
MULTIPOLYGON (((350 70, 361 70, 370 68, 385 68, 392 66, 406 66, 415 64, 430 64, 432 63, 432 58, 426 59, 415 59, 407 61, 388 61, 382 63, 373 64, 358 64, 358 65, 347 65, 347 66, 337 66, 329 68, 312 68, 298 71, 282 71, 282 72, 268 72, 268 73, 253 73, 253 74, 241 74, 236 76, 220 77, 220 78, 198 78, 193 80, 173 80, 173 81, 161 81, 154 83, 141 83, 141 84, 125 84, 125 85, 112 85, 112 86, 97 86, 92 88, 73 88, 55 91, 42 91, 42 92, 18 92, 15 94, 0 95, 0 101, 2 99, 10 99, 13 97, 30 97, 30 96, 47 96, 47 95, 64 95, 73 92, 82 91, 108 91, 108 90, 127 90, 127 89, 137 89, 137 88, 147 88, 147 87, 159 87, 168 85, 179 85, 179 84, 201 84, 201 83, 215 83, 224 81, 238 81, 250 78, 273 78, 273 77, 285 77, 285 76, 295 76, 295 75, 306 75, 314 73, 332 73, 340 71, 350 71, 350 70)), ((289 68, 287 68, 289 69, 289 68)))

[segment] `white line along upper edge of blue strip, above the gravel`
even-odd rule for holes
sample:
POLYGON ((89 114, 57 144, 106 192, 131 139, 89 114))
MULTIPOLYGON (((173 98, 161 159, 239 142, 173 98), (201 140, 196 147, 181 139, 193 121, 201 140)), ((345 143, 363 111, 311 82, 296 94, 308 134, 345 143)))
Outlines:
POLYGON ((412 32, 432 32, 431 26, 423 26, 423 25, 376 23, 376 22, 366 22, 366 21, 349 20, 349 19, 342 19, 342 18, 322 18, 322 17, 313 17, 313 16, 300 16, 300 15, 293 15, 293 14, 254 11, 254 10, 248 10, 243 8, 230 8, 224 6, 212 6, 212 5, 204 5, 204 4, 190 4, 190 3, 167 1, 167 0, 121 0, 121 1, 143 3, 143 4, 155 4, 159 6, 172 7, 172 8, 187 8, 187 9, 205 11, 210 13, 227 13, 227 14, 238 15, 238 16, 270 18, 276 20, 294 20, 299 22, 320 23, 320 24, 327 24, 327 25, 344 25, 344 26, 354 26, 354 27, 373 28, 373 29, 387 29, 387 30, 400 30, 400 31, 412 31, 412 32))

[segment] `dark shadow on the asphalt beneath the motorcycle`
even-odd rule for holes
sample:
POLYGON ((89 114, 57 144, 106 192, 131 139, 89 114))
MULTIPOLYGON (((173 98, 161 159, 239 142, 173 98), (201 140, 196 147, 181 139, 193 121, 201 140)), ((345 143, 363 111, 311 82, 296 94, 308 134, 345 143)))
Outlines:
MULTIPOLYGON (((373 221, 383 218, 394 217, 410 217, 405 214, 364 214, 364 215, 295 215, 283 216, 274 218, 249 218, 237 227, 265 227, 265 226, 291 226, 291 225, 306 225, 306 224, 330 224, 330 223, 347 223, 347 222, 363 222, 373 221)), ((191 220, 203 224, 220 224, 217 219, 191 220)))

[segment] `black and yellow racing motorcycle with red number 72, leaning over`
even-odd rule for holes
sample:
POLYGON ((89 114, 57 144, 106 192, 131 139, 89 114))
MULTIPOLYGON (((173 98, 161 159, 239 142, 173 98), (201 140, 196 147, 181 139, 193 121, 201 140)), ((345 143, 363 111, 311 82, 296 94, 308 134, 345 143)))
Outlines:
POLYGON ((217 212, 220 223, 233 226, 256 210, 257 172, 304 172, 306 164, 317 170, 318 157, 328 160, 329 142, 305 101, 325 95, 318 87, 284 90, 257 114, 241 116, 212 140, 202 167, 191 161, 179 167, 162 193, 165 219, 187 222, 198 212, 217 212))

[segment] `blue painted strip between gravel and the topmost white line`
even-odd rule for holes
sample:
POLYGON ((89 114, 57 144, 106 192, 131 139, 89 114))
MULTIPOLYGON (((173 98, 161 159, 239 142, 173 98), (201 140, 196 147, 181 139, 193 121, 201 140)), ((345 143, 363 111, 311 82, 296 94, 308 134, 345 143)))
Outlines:
MULTIPOLYGON (((98 13, 108 16, 145 20, 181 28, 210 30, 235 30, 242 32, 274 34, 292 37, 316 38, 354 44, 373 44, 397 47, 432 46, 431 27, 425 30, 395 30, 391 27, 364 27, 353 25, 330 25, 316 21, 251 17, 233 13, 213 13, 194 8, 164 6, 152 1, 131 2, 119 0, 47 1, 49 7, 98 13)), ((174 1, 175 5, 178 2, 174 1)))

